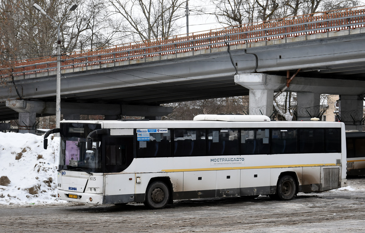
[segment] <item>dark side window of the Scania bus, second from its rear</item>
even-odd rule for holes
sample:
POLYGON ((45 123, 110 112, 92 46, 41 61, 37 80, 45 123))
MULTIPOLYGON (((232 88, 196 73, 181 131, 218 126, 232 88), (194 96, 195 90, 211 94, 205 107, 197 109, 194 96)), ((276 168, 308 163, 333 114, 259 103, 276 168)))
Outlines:
POLYGON ((299 153, 324 153, 324 130, 299 128, 299 153))

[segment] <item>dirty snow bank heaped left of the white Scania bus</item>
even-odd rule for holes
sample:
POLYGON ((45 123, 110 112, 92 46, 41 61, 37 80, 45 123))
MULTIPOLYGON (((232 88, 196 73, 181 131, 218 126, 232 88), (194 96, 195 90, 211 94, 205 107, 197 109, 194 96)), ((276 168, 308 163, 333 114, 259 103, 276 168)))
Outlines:
POLYGON ((59 138, 0 132, 0 204, 57 202, 59 138), (52 140, 53 139, 53 140, 52 140))

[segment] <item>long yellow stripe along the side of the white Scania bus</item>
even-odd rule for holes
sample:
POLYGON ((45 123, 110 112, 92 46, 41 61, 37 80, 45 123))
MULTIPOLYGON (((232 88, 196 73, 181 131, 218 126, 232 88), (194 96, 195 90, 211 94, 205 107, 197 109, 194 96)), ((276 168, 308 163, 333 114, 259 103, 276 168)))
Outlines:
POLYGON ((284 168, 284 167, 319 167, 319 166, 336 166, 335 163, 321 164, 296 164, 296 165, 276 165, 276 166, 251 166, 251 167, 211 167, 211 168, 193 168, 193 169, 166 169, 164 172, 177 171, 214 171, 214 170, 239 170, 239 169, 260 169, 260 168, 284 168))

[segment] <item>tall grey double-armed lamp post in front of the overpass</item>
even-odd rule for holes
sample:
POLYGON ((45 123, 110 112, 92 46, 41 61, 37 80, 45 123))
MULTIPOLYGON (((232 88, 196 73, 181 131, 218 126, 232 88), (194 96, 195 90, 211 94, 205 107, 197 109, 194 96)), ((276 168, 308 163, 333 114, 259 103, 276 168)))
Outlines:
POLYGON ((53 23, 57 25, 56 128, 59 128, 59 122, 61 121, 61 39, 59 35, 59 27, 61 26, 62 21, 64 21, 66 17, 77 8, 77 4, 72 3, 69 10, 66 12, 66 15, 61 19, 61 21, 59 21, 58 24, 51 17, 49 17, 47 13, 43 11, 43 9, 37 3, 34 3, 33 7, 37 11, 41 12, 43 15, 47 16, 50 20, 53 21, 53 23))

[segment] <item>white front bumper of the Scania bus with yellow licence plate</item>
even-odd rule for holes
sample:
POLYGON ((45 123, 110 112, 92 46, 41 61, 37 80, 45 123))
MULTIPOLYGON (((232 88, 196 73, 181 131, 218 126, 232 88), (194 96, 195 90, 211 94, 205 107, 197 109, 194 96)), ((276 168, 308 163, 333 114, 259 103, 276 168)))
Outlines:
POLYGON ((103 194, 96 193, 76 193, 57 189, 57 199, 90 204, 103 204, 103 194), (74 198, 70 198, 70 195, 74 198))

